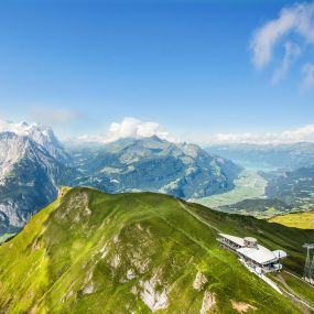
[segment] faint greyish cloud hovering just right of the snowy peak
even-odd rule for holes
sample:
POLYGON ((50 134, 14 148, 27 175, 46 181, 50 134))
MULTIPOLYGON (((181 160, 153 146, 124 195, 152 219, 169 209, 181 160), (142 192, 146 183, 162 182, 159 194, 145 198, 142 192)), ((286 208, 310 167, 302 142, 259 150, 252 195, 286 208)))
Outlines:
POLYGON ((30 118, 39 123, 59 127, 67 124, 78 118, 82 115, 74 110, 53 108, 53 107, 33 107, 30 110, 30 118))

